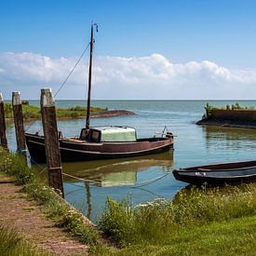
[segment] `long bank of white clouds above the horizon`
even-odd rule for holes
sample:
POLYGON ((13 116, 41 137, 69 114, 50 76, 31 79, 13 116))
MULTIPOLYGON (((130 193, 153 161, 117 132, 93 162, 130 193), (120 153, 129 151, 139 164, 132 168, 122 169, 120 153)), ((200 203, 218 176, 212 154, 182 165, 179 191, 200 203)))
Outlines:
MULTIPOLYGON (((0 90, 38 98, 40 88, 57 90, 75 61, 77 57, 0 53, 0 90)), ((77 66, 61 99, 84 98, 87 81, 88 59, 77 66)), ((250 99, 251 93, 256 95, 256 69, 230 70, 211 61, 172 63, 160 54, 101 56, 93 63, 93 86, 95 99, 250 99)))

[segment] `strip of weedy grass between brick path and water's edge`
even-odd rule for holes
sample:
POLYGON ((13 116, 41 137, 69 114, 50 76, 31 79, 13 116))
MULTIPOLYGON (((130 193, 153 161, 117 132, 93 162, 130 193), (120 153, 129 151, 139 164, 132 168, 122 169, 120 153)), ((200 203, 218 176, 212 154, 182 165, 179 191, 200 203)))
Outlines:
POLYGON ((72 209, 62 198, 47 186, 36 168, 28 168, 25 161, 17 154, 9 154, 0 147, 0 171, 14 176, 17 184, 22 185, 22 192, 42 206, 48 218, 63 228, 71 236, 91 246, 100 247, 98 231, 85 223, 81 212, 72 209))

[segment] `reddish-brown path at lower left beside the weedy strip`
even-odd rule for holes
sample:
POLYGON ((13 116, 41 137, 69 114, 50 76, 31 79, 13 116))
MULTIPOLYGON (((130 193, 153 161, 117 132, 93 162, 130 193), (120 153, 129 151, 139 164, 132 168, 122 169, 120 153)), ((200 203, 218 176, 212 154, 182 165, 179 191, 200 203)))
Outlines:
POLYGON ((87 245, 54 227, 54 222, 47 220, 34 201, 28 201, 19 190, 0 174, 0 224, 14 227, 30 243, 53 254, 88 254, 87 245))

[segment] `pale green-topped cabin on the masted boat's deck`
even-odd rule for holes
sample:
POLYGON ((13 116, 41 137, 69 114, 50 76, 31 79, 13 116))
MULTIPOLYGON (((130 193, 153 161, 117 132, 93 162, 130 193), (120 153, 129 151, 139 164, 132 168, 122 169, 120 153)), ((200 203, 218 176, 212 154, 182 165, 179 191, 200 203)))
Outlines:
POLYGON ((129 127, 100 127, 100 128, 82 128, 80 140, 91 142, 128 142, 137 141, 135 128, 129 127))

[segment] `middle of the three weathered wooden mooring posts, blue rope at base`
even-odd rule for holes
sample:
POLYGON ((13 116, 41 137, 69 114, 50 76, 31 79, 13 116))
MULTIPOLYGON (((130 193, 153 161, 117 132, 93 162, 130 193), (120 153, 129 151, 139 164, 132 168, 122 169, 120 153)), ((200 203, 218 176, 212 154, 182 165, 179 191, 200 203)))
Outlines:
POLYGON ((16 141, 17 141, 17 151, 20 155, 23 155, 27 161, 26 154, 26 140, 25 131, 23 125, 23 115, 22 115, 22 103, 20 97, 20 91, 12 92, 12 108, 13 108, 13 118, 15 124, 16 141))

